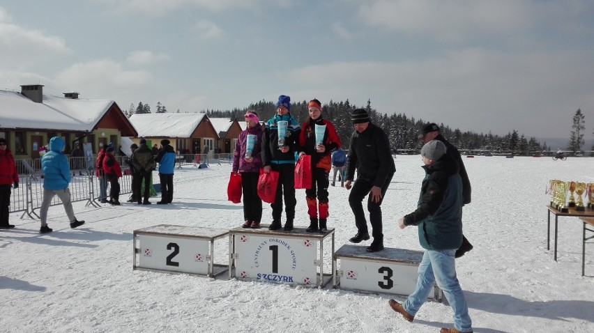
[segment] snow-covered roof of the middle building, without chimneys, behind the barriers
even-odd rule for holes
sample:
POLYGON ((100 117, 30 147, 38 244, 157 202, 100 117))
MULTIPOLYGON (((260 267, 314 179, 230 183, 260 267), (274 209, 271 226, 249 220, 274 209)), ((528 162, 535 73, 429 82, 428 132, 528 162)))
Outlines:
POLYGON ((188 138, 206 114, 132 114, 138 137, 188 138))

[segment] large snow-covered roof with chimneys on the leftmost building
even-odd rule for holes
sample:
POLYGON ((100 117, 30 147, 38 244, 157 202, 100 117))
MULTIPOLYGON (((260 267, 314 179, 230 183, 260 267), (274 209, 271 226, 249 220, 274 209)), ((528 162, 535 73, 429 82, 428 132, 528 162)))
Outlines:
POLYGON ((90 132, 114 103, 52 95, 36 103, 17 91, 0 90, 0 127, 90 132))

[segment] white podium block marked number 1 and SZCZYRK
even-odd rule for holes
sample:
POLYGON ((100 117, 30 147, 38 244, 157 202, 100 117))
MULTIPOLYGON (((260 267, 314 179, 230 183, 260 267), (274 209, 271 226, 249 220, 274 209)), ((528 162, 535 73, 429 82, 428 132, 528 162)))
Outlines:
POLYGON ((229 279, 324 286, 330 281, 330 274, 323 274, 326 240, 334 253, 334 229, 326 233, 307 233, 299 227, 270 231, 267 225, 262 229, 231 229, 229 279))

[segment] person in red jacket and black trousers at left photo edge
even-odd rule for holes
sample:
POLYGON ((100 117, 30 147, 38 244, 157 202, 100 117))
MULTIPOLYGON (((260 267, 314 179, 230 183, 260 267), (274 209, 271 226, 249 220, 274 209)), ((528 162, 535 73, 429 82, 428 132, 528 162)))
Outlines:
POLYGON ((10 213, 10 185, 19 187, 19 173, 13 153, 6 146, 6 139, 0 138, 0 229, 14 228, 8 224, 10 213))

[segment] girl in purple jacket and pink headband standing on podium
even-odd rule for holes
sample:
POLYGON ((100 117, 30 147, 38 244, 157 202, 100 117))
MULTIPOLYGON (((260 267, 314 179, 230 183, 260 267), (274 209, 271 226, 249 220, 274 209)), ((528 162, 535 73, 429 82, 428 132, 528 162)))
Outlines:
POLYGON ((243 191, 243 228, 258 229, 262 219, 262 199, 258 196, 258 178, 262 167, 261 142, 264 131, 258 114, 254 110, 245 113, 245 130, 235 144, 233 167, 231 170, 241 174, 243 191), (254 147, 247 150, 248 135, 254 135, 254 147))

